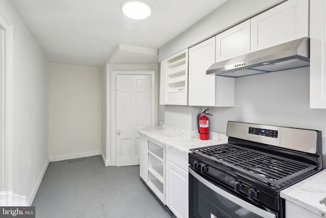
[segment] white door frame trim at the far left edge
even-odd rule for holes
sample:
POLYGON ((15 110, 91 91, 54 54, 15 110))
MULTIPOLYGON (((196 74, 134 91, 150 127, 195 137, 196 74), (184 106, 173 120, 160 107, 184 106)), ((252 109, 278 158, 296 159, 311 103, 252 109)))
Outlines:
POLYGON ((0 174, 3 174, 3 187, 0 191, 0 204, 3 206, 10 206, 13 204, 13 180, 12 180, 12 123, 13 123, 13 27, 10 22, 0 13, 0 27, 4 31, 3 43, 3 62, 4 66, 0 69, 0 76, 3 77, 3 115, 0 116, 0 122, 3 125, 3 140, 2 150, 0 154, 0 161, 3 161, 3 168, 0 169, 0 174))

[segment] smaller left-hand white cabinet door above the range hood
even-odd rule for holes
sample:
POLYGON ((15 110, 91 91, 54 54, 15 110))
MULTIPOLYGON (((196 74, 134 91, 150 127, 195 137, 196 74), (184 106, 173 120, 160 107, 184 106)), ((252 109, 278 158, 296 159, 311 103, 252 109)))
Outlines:
POLYGON ((216 35, 216 62, 250 53, 250 20, 216 35))

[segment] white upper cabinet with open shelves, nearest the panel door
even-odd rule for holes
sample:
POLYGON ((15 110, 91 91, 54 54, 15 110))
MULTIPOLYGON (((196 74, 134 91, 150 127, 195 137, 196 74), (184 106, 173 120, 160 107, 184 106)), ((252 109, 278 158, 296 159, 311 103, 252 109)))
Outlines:
POLYGON ((188 49, 161 61, 160 105, 187 105, 188 49))

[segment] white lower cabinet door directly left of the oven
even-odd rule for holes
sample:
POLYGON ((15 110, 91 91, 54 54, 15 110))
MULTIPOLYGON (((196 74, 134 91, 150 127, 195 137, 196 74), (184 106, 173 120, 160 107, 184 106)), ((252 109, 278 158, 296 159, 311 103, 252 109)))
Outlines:
POLYGON ((177 217, 188 217, 188 172, 169 160, 166 204, 177 217))

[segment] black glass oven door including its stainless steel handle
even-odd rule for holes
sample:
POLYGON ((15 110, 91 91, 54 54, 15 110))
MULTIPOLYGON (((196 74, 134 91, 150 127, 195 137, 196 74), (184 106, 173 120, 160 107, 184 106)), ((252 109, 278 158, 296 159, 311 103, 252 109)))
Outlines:
POLYGON ((277 218, 207 181, 189 167, 189 217, 277 218))

